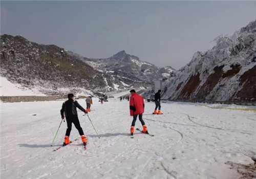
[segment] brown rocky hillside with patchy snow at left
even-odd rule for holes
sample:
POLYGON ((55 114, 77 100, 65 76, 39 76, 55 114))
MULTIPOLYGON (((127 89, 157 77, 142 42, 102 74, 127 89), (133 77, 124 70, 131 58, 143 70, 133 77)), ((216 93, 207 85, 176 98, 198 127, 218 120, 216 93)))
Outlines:
POLYGON ((1 36, 1 76, 52 95, 80 88, 111 91, 111 76, 84 62, 83 57, 54 45, 30 42, 22 36, 1 36))

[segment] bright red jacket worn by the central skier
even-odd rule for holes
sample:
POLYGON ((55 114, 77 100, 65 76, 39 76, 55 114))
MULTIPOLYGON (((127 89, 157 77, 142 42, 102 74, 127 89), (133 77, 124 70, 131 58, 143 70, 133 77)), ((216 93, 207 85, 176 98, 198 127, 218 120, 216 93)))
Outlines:
POLYGON ((130 115, 141 115, 144 113, 144 99, 135 93, 130 99, 130 115))

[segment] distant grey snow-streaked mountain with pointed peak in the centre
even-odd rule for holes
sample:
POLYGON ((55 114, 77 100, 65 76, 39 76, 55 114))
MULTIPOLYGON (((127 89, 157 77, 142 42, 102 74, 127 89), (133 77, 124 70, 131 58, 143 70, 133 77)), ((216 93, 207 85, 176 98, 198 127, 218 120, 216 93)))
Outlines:
POLYGON ((169 77, 170 73, 175 72, 170 66, 159 68, 154 64, 140 61, 138 57, 126 54, 125 51, 120 51, 110 58, 84 58, 84 60, 98 71, 111 74, 123 85, 130 86, 150 86, 154 80, 169 77))

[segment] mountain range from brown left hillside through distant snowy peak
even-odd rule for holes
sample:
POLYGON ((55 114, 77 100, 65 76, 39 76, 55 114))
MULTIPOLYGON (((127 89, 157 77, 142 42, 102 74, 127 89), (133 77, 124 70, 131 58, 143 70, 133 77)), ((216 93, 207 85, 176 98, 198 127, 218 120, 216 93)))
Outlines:
POLYGON ((1 76, 47 95, 83 89, 96 93, 146 88, 174 70, 166 67, 160 71, 124 51, 106 59, 89 59, 54 45, 7 34, 1 36, 0 65, 1 76))

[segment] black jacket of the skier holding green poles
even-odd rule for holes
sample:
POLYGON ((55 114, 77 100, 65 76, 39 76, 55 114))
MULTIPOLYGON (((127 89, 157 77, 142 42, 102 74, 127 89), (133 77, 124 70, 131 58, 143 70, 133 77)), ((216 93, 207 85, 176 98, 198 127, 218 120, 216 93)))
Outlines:
POLYGON ((68 101, 63 102, 62 108, 60 109, 61 117, 64 116, 64 113, 65 113, 66 118, 68 116, 77 116, 77 110, 76 110, 77 107, 81 111, 86 112, 86 109, 84 109, 82 106, 80 106, 80 104, 73 99, 69 99, 68 101))

